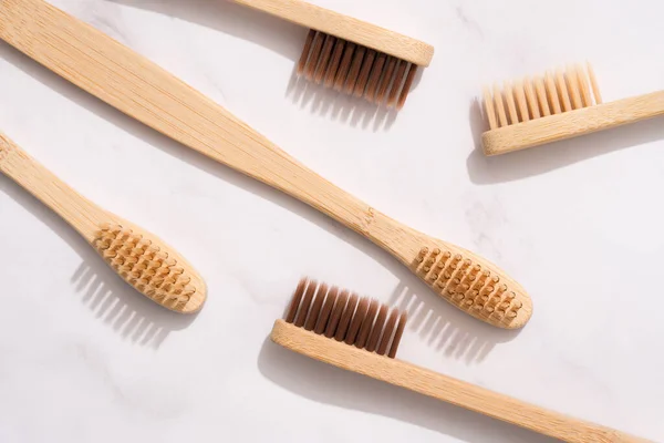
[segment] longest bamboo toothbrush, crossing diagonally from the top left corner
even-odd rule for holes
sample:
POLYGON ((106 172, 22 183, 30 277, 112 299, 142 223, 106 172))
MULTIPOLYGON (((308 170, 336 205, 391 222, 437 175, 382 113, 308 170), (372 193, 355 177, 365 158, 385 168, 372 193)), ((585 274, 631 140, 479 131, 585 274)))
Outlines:
POLYGON ((333 186, 205 95, 53 6, 0 2, 0 38, 127 115, 371 239, 473 317, 508 329, 530 318, 530 297, 495 265, 333 186))

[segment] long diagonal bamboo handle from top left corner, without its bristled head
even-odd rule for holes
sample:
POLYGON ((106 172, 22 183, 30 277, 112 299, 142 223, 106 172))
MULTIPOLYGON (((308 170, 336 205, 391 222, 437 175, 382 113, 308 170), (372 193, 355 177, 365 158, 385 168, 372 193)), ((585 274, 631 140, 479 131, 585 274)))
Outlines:
POLYGON ((42 0, 0 2, 0 38, 154 130, 280 189, 381 244, 386 217, 308 169, 224 107, 42 0), (367 226, 371 225, 371 229, 367 226))

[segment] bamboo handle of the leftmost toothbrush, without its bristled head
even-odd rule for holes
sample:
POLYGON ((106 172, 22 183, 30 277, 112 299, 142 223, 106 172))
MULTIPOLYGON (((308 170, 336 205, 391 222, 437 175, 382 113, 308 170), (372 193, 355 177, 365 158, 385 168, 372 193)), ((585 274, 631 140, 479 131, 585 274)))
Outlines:
POLYGON ((0 133, 0 172, 12 178, 92 241, 103 209, 64 184, 4 134, 0 133))

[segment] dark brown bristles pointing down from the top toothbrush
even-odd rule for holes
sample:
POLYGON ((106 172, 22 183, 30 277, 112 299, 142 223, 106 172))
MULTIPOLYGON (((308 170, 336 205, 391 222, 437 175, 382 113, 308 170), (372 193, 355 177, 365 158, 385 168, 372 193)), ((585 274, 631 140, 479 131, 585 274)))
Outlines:
POLYGON ((416 72, 414 63, 313 29, 297 68, 317 84, 396 109, 404 106, 416 72))

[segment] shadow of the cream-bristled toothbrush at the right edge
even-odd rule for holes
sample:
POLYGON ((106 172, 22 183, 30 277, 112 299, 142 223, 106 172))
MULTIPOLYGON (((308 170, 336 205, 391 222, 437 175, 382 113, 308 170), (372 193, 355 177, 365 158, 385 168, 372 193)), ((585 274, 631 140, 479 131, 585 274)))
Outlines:
POLYGON ((580 137, 487 157, 481 151, 481 133, 488 130, 481 105, 470 103, 470 131, 475 151, 466 161, 470 181, 478 185, 512 182, 546 174, 584 159, 614 151, 635 148, 641 144, 664 140, 664 122, 655 117, 580 137))

